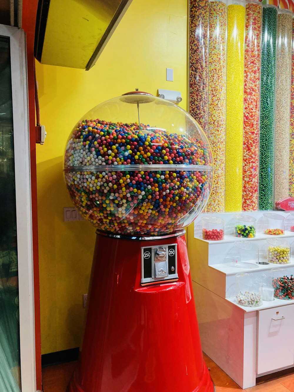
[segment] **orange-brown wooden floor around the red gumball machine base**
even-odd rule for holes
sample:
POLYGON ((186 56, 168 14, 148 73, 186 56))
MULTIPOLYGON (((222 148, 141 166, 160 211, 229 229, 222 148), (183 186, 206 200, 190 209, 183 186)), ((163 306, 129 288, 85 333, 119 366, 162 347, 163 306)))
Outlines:
MULTIPOLYGON (((210 358, 204 354, 207 367, 216 386, 216 392, 234 392, 240 387, 223 372, 210 358)), ((54 365, 42 369, 43 392, 65 392, 69 379, 73 373, 76 362, 54 365)), ((255 392, 294 392, 294 369, 287 369, 269 376, 260 377, 258 385, 246 391, 255 392)), ((93 391, 94 392, 94 391, 93 391)), ((111 392, 111 391, 109 391, 111 392)))

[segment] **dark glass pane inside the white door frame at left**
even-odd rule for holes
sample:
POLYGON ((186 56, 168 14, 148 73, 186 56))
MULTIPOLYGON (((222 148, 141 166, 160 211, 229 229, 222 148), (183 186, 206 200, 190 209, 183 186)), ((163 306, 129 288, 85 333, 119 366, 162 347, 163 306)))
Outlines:
POLYGON ((0 36, 0 390, 19 391, 20 332, 10 39, 0 36))

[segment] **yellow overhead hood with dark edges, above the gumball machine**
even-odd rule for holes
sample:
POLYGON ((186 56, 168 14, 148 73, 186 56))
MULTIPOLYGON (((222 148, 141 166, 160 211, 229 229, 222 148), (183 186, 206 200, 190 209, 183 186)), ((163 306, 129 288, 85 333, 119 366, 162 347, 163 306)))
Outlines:
POLYGON ((39 0, 34 55, 42 64, 89 70, 132 0, 39 0))

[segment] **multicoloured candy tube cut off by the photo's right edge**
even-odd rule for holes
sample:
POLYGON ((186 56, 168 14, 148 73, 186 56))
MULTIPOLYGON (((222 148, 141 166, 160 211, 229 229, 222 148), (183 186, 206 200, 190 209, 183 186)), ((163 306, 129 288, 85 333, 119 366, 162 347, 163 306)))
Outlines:
POLYGON ((294 196, 294 19, 292 20, 292 78, 290 104, 289 196, 294 196))

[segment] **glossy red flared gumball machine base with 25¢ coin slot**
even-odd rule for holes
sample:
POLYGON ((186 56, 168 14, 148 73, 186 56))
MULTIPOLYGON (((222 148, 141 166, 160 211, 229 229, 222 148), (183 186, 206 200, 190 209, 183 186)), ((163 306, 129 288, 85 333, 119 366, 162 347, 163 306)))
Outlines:
POLYGON ((98 234, 82 345, 67 392, 213 390, 185 236, 125 240, 98 234), (165 266, 170 274, 154 278, 165 275, 165 266))

